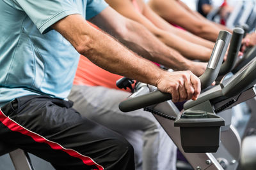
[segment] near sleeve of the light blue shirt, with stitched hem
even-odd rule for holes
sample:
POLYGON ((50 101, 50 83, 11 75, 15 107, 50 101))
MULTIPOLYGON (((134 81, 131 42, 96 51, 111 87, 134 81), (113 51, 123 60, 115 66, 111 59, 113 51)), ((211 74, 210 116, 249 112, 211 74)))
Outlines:
POLYGON ((49 31, 51 25, 72 14, 78 14, 76 4, 71 0, 15 0, 28 15, 41 34, 49 31))

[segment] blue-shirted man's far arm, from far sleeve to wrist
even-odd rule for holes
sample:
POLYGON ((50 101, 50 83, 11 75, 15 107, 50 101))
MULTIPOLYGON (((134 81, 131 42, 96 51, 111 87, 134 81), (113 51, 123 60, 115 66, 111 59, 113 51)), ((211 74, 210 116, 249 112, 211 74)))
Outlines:
POLYGON ((90 22, 108 32, 132 51, 146 59, 174 70, 189 69, 190 60, 182 57, 179 52, 172 48, 168 48, 143 25, 123 17, 111 8, 109 10, 102 11, 92 18, 90 22), (118 22, 113 22, 113 20, 118 22))

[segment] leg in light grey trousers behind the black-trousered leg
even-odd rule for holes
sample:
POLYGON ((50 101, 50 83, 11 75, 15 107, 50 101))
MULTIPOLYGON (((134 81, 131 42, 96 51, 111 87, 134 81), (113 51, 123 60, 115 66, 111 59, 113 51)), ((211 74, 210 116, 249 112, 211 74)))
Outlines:
POLYGON ((123 113, 120 101, 130 93, 105 87, 74 85, 68 99, 74 108, 99 124, 122 134, 134 147, 136 169, 175 169, 176 146, 154 116, 143 110, 123 113), (141 150, 143 155, 141 155, 141 150))

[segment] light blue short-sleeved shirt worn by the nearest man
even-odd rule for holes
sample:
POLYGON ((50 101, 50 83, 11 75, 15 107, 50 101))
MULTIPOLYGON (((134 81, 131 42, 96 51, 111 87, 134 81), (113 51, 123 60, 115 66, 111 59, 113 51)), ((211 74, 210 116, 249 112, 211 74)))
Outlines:
POLYGON ((104 0, 0 0, 0 106, 16 97, 65 99, 79 53, 51 25, 71 14, 89 19, 104 0))

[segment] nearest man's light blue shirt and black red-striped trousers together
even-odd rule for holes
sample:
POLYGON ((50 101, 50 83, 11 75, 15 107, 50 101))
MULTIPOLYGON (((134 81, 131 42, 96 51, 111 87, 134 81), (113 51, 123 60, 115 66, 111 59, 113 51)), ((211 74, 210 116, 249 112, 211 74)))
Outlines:
POLYGON ((2 107, 5 127, 0 132, 4 135, 6 127, 19 132, 10 135, 15 139, 11 144, 48 160, 56 169, 120 169, 122 155, 129 164, 124 169, 134 168, 132 147, 124 139, 116 145, 114 138, 120 137, 104 127, 100 133, 106 134, 93 137, 95 125, 82 122, 72 104, 60 100, 72 87, 80 54, 60 33, 51 31, 51 25, 73 14, 92 18, 107 6, 104 1, 0 1, 0 105, 17 98, 2 107), (99 139, 105 135, 109 141, 102 144, 99 139))

